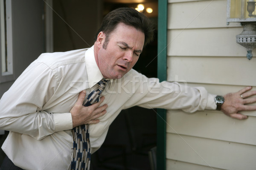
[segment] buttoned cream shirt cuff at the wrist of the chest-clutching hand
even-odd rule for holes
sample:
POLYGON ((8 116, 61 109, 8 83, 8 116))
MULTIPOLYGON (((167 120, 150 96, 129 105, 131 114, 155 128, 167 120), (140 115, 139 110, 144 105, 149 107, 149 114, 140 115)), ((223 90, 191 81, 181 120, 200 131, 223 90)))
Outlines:
POLYGON ((71 113, 54 113, 53 118, 56 132, 73 128, 71 113))

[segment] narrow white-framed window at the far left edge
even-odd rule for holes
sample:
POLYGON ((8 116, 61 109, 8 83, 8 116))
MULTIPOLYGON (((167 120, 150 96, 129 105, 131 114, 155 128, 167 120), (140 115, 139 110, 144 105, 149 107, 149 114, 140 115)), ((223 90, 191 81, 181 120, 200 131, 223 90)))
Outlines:
POLYGON ((12 62, 12 0, 0 0, 1 74, 0 82, 13 80, 12 62))

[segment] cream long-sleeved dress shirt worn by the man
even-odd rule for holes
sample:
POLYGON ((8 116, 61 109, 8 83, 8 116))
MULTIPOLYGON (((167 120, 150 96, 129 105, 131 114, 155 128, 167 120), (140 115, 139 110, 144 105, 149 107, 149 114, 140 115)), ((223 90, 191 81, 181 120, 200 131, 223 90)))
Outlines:
MULTIPOLYGON (((0 100, 0 129, 9 130, 2 149, 13 163, 26 170, 69 170, 72 117, 70 109, 79 92, 87 95, 103 78, 93 47, 41 54, 0 100)), ((216 109, 215 95, 204 88, 148 79, 135 70, 112 80, 102 93, 108 104, 100 122, 90 125, 92 153, 105 140, 108 128, 122 109, 216 109)))

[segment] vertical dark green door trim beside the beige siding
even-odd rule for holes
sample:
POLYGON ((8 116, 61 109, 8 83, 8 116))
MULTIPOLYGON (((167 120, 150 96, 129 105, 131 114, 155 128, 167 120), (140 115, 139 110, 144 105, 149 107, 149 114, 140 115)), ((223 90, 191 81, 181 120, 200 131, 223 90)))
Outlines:
MULTIPOLYGON (((167 78, 167 0, 158 0, 157 77, 167 78)), ((166 170, 166 110, 157 109, 157 170, 166 170)))

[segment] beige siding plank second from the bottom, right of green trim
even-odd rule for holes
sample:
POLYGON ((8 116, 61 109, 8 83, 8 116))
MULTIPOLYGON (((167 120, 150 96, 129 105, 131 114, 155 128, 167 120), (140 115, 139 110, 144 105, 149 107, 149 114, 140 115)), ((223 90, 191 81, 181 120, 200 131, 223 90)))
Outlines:
POLYGON ((166 157, 228 170, 255 170, 256 147, 167 133, 166 157))

